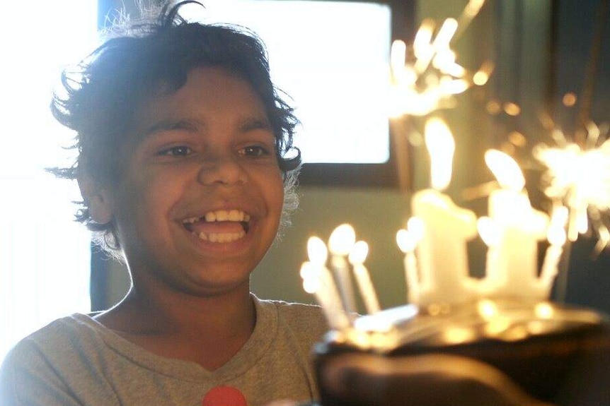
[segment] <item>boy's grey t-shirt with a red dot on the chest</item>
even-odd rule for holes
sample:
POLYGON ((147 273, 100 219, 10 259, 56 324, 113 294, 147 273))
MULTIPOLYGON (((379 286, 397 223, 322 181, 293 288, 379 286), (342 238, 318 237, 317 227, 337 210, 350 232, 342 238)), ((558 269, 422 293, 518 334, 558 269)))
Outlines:
POLYGON ((60 318, 8 353, 0 406, 263 406, 316 399, 311 350, 327 329, 320 308, 254 300, 251 338, 214 371, 152 354, 84 314, 60 318))

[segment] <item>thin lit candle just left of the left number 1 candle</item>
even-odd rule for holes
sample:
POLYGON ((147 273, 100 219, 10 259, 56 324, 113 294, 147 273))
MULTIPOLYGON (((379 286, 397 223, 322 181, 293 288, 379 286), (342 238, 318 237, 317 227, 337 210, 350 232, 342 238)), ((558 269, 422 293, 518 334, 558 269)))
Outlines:
POLYGON ((396 243, 403 251, 405 258, 405 282, 407 282, 407 301, 418 303, 420 297, 420 282, 418 275, 418 262, 415 258, 415 247, 422 239, 425 225, 422 219, 411 217, 407 222, 407 229, 399 229, 396 233, 396 243))

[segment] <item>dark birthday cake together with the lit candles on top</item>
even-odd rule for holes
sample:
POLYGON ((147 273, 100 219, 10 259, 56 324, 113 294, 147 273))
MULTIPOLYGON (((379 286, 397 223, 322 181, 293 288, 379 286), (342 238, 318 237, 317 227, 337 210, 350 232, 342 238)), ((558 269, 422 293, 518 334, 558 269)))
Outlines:
MULTIPOLYGON (((460 208, 442 193, 443 186, 414 193, 413 217, 397 234, 405 254, 405 306, 379 309, 364 266, 368 246, 355 240, 350 225, 333 231, 328 248, 318 237, 309 240, 301 277, 330 325, 315 357, 323 406, 389 406, 384 391, 396 388, 383 383, 374 388, 379 402, 333 395, 323 371, 343 354, 405 365, 409 357, 439 353, 457 356, 457 363, 470 359, 499 370, 511 385, 541 402, 610 405, 609 319, 548 301, 574 213, 563 205, 554 206, 550 215, 534 209, 516 162, 493 150, 485 159, 500 184, 490 193, 488 216, 477 218, 460 208), (500 168, 511 176, 500 176, 494 170, 500 168), (467 244, 478 237, 488 246, 483 277, 473 277, 468 268, 467 244), (541 242, 547 247, 539 263, 541 242), (352 285, 359 289, 365 316, 353 316, 352 285)), ((401 373, 396 369, 396 375, 401 373)), ((400 381, 383 376, 392 385, 400 381)), ((403 405, 392 399, 392 406, 403 405)), ((461 404, 467 403, 462 399, 461 404)))

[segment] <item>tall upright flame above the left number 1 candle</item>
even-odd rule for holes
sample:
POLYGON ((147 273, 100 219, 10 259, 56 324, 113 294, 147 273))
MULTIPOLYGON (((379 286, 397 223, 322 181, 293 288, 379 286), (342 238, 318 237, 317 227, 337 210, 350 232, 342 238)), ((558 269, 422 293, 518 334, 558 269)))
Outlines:
POLYGON ((454 137, 442 119, 432 117, 425 124, 425 142, 432 162, 432 188, 444 190, 451 181, 455 151, 454 137))

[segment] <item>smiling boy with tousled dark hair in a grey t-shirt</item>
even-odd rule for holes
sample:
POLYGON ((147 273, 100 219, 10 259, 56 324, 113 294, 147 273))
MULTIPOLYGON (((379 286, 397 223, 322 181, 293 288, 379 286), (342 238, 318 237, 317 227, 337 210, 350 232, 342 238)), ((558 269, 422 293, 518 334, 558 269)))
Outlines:
POLYGON ((0 371, 0 405, 316 398, 321 312, 249 286, 294 187, 297 121, 259 40, 183 20, 187 3, 64 73, 52 109, 76 131, 79 156, 55 172, 79 181, 77 217, 125 261, 132 286, 108 311, 19 342, 0 371))

